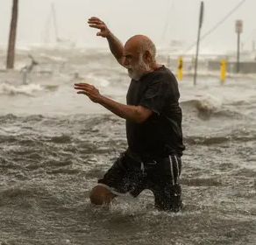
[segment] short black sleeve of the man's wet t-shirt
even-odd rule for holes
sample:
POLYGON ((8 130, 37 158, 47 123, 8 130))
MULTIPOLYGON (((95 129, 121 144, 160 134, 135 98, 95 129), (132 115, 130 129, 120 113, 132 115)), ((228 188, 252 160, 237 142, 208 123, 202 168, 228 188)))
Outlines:
POLYGON ((143 95, 139 106, 151 109, 154 113, 160 115, 162 108, 167 102, 166 97, 169 91, 167 81, 155 80, 150 83, 143 95))

